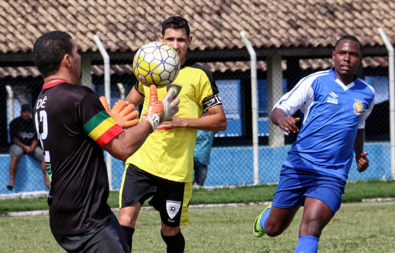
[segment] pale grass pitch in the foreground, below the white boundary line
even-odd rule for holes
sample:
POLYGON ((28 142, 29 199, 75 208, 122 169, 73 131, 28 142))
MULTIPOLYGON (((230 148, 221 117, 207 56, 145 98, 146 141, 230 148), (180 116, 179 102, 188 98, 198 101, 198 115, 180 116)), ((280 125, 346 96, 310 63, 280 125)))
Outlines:
MULTIPOLYGON (((252 223, 265 206, 190 209, 182 226, 185 252, 293 252, 299 210, 290 227, 276 238, 255 238, 252 223)), ((324 229, 319 252, 394 252, 395 202, 345 203, 324 229)), ((62 252, 49 230, 48 216, 1 217, 0 252, 62 252)), ((158 212, 139 215, 134 252, 166 252, 158 212)))

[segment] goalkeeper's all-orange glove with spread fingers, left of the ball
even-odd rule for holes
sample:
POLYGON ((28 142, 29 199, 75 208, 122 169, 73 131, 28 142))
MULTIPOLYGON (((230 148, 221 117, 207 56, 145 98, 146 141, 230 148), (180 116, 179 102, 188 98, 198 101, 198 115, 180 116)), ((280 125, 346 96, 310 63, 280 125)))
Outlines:
POLYGON ((102 96, 99 98, 99 100, 102 102, 105 111, 115 120, 118 125, 120 125, 120 127, 128 128, 139 123, 140 120, 136 119, 136 117, 139 115, 139 112, 133 111, 133 104, 128 104, 126 106, 126 101, 120 100, 110 111, 107 99, 102 96))

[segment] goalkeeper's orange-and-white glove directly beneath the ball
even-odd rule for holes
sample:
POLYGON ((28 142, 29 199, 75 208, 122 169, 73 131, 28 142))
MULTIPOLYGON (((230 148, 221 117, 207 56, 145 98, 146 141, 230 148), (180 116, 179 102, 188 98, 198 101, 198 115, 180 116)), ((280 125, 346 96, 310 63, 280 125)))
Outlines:
POLYGON ((170 120, 171 116, 179 111, 178 104, 180 103, 180 99, 178 97, 173 99, 174 93, 175 90, 170 88, 164 98, 158 100, 156 86, 153 84, 150 86, 148 113, 143 120, 151 124, 153 131, 156 130, 160 123, 170 120))

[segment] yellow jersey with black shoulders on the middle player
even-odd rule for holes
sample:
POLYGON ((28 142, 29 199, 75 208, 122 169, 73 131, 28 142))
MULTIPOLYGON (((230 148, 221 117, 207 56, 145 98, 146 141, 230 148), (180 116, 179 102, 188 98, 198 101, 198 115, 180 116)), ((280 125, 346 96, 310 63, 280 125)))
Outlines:
MULTIPOLYGON (((145 95, 141 112, 144 115, 148 110, 149 87, 139 82, 135 87, 145 95)), ((201 117, 203 108, 207 110, 222 104, 213 74, 190 60, 186 60, 181 66, 172 84, 157 89, 158 99, 162 99, 169 88, 174 88, 175 96, 180 98, 179 112, 176 114, 178 117, 197 119, 201 117)), ((197 131, 187 127, 157 129, 125 164, 134 164, 139 169, 164 179, 192 182, 197 131)))

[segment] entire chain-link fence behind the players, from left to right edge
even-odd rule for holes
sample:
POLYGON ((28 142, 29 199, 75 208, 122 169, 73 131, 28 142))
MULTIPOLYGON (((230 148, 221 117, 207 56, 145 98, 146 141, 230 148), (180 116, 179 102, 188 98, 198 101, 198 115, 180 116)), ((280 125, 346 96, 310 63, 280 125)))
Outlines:
MULTIPOLYGON (((325 51, 327 52, 327 51, 325 51)), ((228 120, 228 128, 214 137, 211 164, 208 166, 205 186, 243 185, 254 182, 252 151, 252 106, 250 62, 229 51, 219 52, 213 58, 202 52, 187 54, 187 58, 207 67, 216 80, 228 120), (227 57, 227 54, 229 56, 227 57)), ((132 57, 128 60, 111 59, 111 101, 124 99, 135 84, 132 57)), ((296 134, 285 134, 269 119, 275 102, 290 91, 297 82, 317 71, 331 68, 331 56, 258 56, 258 135, 259 182, 275 183, 282 163, 296 134), (269 132, 271 135, 269 135, 269 132)), ((376 101, 365 127, 365 151, 369 152, 370 167, 358 173, 355 162, 349 180, 382 179, 391 177, 389 145, 389 94, 387 56, 368 55, 363 58, 358 76, 371 84, 376 101)), ((83 59, 83 78, 80 84, 91 87, 99 96, 104 95, 103 61, 83 59)), ((34 105, 43 80, 32 62, 0 62, 0 194, 45 190, 40 162, 23 156, 15 179, 15 187, 7 190, 9 182, 8 154, 10 143, 9 123, 19 117, 21 104, 34 105)), ((137 108, 139 110, 139 108, 137 108)), ((296 113, 295 116, 297 116, 296 113)), ((335 150, 333 152, 336 152, 335 150)), ((113 159, 113 188, 120 187, 124 165, 113 159)))

